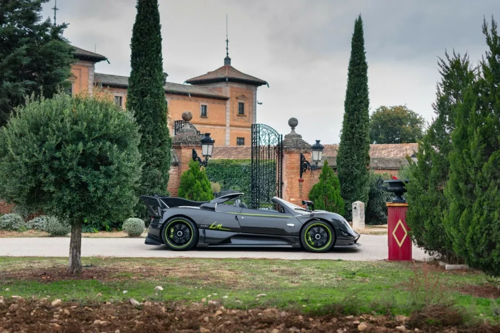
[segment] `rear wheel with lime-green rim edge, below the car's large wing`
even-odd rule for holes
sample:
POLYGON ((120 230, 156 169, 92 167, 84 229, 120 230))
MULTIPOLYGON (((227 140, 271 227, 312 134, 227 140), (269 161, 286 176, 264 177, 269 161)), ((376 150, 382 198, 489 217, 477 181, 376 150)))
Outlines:
POLYGON ((196 245, 198 229, 190 220, 173 217, 165 222, 161 232, 163 243, 173 251, 187 251, 196 245))

